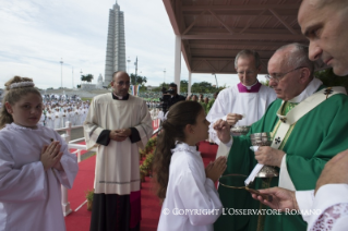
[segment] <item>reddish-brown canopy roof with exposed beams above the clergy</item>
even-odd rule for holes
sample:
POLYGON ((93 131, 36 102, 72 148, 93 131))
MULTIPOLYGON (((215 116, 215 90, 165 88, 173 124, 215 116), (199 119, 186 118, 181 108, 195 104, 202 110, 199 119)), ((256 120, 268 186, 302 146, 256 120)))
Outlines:
POLYGON ((163 1, 191 73, 236 73, 235 58, 242 49, 256 50, 267 73, 277 48, 308 44, 297 21, 301 0, 163 1))

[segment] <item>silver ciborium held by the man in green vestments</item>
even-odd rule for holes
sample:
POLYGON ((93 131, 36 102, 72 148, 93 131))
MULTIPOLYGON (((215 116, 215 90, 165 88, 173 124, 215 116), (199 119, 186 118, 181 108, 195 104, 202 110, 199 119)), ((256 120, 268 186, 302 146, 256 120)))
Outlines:
MULTIPOLYGON (((253 133, 250 135, 250 139, 253 146, 271 146, 273 142, 271 133, 268 132, 253 133)), ((256 174, 256 178, 273 178, 278 175, 279 173, 275 168, 264 166, 256 174)))

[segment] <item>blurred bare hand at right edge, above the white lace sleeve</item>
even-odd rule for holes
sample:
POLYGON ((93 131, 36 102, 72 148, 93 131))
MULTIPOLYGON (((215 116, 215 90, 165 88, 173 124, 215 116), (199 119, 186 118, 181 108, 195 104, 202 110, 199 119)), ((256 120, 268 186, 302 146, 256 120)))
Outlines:
POLYGON ((316 181, 316 191, 325 184, 348 184, 348 149, 331 159, 316 181))

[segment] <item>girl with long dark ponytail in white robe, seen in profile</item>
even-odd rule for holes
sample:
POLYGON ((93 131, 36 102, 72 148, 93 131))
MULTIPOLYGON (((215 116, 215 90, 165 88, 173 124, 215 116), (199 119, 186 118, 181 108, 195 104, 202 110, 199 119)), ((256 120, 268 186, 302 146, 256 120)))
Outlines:
POLYGON ((219 157, 205 169, 195 144, 208 137, 209 122, 196 101, 170 107, 154 156, 157 196, 164 199, 158 231, 213 231, 223 204, 214 182, 226 169, 219 157))

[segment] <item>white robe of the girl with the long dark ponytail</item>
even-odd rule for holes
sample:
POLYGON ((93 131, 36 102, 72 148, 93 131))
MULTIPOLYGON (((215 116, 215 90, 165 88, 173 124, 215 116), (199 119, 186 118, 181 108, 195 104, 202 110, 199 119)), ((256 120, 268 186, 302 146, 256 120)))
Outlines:
POLYGON ((157 230, 213 231, 223 204, 214 182, 206 178, 201 153, 188 144, 177 144, 171 151, 169 181, 157 230))

